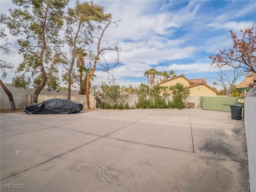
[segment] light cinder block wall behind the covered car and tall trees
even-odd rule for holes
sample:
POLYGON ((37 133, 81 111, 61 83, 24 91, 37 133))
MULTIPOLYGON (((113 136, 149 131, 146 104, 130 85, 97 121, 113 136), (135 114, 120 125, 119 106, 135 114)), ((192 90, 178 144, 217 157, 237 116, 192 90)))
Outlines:
MULTIPOLYGON (((33 95, 35 89, 27 88, 8 88, 12 93, 15 105, 17 109, 22 109, 24 106, 33 103, 33 95)), ((38 96, 38 102, 42 102, 44 100, 53 99, 53 98, 67 98, 68 91, 61 90, 60 92, 56 91, 48 91, 48 90, 41 90, 38 96)), ((82 103, 84 108, 87 108, 86 105, 86 95, 79 95, 78 91, 71 90, 71 100, 75 102, 82 103)), ((90 100, 90 108, 96 107, 96 100, 92 95, 89 95, 90 100)), ((7 94, 0 88, 0 108, 1 110, 10 110, 10 102, 7 94)))

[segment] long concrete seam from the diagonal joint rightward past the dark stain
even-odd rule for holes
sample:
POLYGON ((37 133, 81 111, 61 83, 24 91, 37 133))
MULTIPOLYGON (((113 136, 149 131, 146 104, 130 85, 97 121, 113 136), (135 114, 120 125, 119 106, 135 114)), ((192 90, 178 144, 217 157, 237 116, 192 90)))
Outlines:
POLYGON ((134 142, 134 141, 128 141, 128 140, 123 140, 123 139, 118 139, 118 138, 113 138, 113 137, 106 137, 106 136, 102 136, 102 137, 104 137, 104 138, 109 138, 109 139, 114 139, 114 140, 119 140, 119 141, 123 141, 123 142, 129 142, 129 143, 134 143, 134 144, 145 145, 145 146, 164 148, 164 149, 175 150, 175 151, 180 151, 180 152, 187 152, 187 153, 197 154, 197 155, 202 155, 202 156, 209 156, 209 157, 214 157, 214 158, 224 158, 224 159, 229 159, 229 160, 237 160, 237 161, 245 161, 245 162, 248 162, 248 160, 245 160, 245 159, 236 159, 236 158, 223 157, 223 156, 212 156, 212 155, 208 155, 208 154, 201 154, 201 153, 196 153, 196 152, 193 153, 193 152, 191 152, 191 151, 186 151, 186 150, 181 150, 181 149, 174 149, 174 148, 168 148, 168 147, 162 147, 162 146, 156 146, 156 145, 150 145, 150 144, 144 144, 144 143, 139 143, 139 142, 134 142))

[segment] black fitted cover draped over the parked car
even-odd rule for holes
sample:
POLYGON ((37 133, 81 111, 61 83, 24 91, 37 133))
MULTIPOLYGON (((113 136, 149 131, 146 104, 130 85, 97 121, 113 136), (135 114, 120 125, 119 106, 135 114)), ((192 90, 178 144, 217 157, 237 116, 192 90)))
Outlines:
POLYGON ((49 99, 23 108, 24 112, 29 114, 71 114, 78 113, 82 109, 82 104, 68 99, 49 99))

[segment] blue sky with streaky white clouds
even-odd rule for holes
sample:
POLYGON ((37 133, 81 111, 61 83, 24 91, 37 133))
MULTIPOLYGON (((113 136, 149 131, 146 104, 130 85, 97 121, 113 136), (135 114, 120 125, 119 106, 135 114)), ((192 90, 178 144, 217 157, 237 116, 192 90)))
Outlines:
MULTIPOLYGON (((216 76, 220 69, 210 65, 209 56, 232 47, 229 30, 241 36, 241 29, 251 28, 256 22, 256 1, 96 0, 94 3, 104 6, 113 21, 122 20, 104 34, 110 42, 117 40, 121 48, 119 64, 109 71, 121 86, 146 83, 143 74, 150 68, 174 70, 176 75, 185 74, 187 78, 205 78, 212 86, 207 77, 216 76)), ((74 4, 70 0, 68 7, 74 4)), ((10 0, 0 0, 2 13, 8 15, 9 8, 14 8, 10 0)), ((8 34, 8 39, 13 42, 17 37, 8 34)), ((105 52, 104 57, 111 66, 116 53, 105 52)), ((17 51, 1 58, 14 66, 22 62, 17 51)), ((106 72, 95 74, 93 85, 111 78, 106 72)), ((9 72, 4 82, 11 82, 14 76, 14 72, 9 72)))

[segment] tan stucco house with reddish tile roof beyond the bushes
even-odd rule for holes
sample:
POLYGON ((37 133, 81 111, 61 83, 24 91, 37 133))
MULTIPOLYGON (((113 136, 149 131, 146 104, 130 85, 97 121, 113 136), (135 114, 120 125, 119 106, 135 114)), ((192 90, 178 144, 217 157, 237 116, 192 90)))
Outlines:
POLYGON ((183 75, 176 76, 158 83, 160 86, 172 86, 177 83, 183 84, 190 90, 190 96, 216 96, 218 91, 208 84, 204 79, 188 79, 183 75))

